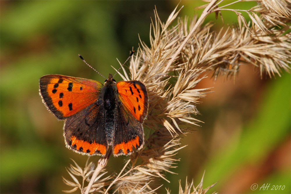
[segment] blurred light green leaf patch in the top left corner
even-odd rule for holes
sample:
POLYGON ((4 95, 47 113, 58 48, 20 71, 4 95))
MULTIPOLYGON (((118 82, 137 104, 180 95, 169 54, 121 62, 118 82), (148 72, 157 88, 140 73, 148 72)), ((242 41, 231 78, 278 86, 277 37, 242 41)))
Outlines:
POLYGON ((80 6, 81 1, 24 1, 1 17, 1 33, 8 33, 14 41, 25 40, 61 25, 80 11, 80 6))

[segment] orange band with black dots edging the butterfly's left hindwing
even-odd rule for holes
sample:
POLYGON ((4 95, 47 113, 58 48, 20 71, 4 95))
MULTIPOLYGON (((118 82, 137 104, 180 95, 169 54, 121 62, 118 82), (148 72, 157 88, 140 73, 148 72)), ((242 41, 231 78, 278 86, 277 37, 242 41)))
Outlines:
POLYGON ((71 140, 72 144, 70 146, 80 152, 85 152, 91 155, 94 154, 96 151, 99 151, 102 155, 106 153, 106 146, 95 143, 95 141, 93 143, 89 143, 87 141, 79 140, 75 136, 72 136, 71 140))

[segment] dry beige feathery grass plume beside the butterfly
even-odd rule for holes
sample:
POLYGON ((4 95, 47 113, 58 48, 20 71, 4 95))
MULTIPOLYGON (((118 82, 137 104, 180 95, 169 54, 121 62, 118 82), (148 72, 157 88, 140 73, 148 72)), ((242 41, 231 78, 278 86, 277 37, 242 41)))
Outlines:
MULTIPOLYGON (((193 118, 198 114, 196 104, 208 88, 195 89, 195 86, 207 72, 213 71, 214 78, 225 74, 235 76, 239 66, 245 64, 259 67, 261 76, 263 72, 271 77, 280 76, 282 70, 290 71, 290 0, 260 0, 258 6, 249 10, 227 9, 227 5, 219 7, 221 1, 207 4, 205 16, 212 12, 218 16, 221 10, 234 11, 238 25, 222 28, 218 33, 210 32, 212 23, 202 26, 204 17, 197 21, 197 16, 190 20, 189 27, 188 17, 178 18, 178 24, 170 27, 180 11, 176 12, 178 6, 166 23, 155 11, 150 47, 141 41, 130 60, 130 75, 123 67, 124 74, 118 72, 124 80, 143 82, 148 90, 148 117, 143 124, 148 138, 143 149, 128 157, 117 176, 101 179, 106 173, 102 169, 101 175, 93 177, 93 185, 87 193, 155 193, 157 188, 152 188, 152 183, 157 178, 168 181, 164 172, 173 173, 170 169, 175 168, 178 161, 175 154, 185 147, 180 147, 181 138, 198 125, 199 120, 193 118), (251 22, 246 22, 242 12, 249 14, 251 22), (189 29, 194 30, 189 33, 189 29)), ((84 170, 75 165, 68 170, 74 182, 64 179, 74 188, 66 192, 80 189, 85 193, 84 182, 90 180, 93 163, 87 163, 84 170), (83 178, 82 184, 75 176, 83 178)), ((202 189, 202 181, 196 188, 193 181, 186 183, 185 190, 180 185, 179 193, 206 193, 214 186, 202 189)))

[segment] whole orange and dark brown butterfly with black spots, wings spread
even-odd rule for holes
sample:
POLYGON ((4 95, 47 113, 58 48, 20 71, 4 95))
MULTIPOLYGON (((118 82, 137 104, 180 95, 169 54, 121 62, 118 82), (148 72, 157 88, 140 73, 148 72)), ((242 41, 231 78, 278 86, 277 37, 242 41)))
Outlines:
POLYGON ((90 79, 51 74, 40 78, 39 91, 47 108, 65 120, 65 144, 75 152, 104 156, 111 149, 118 156, 143 147, 148 93, 140 81, 116 83, 109 74, 103 85, 90 79))

